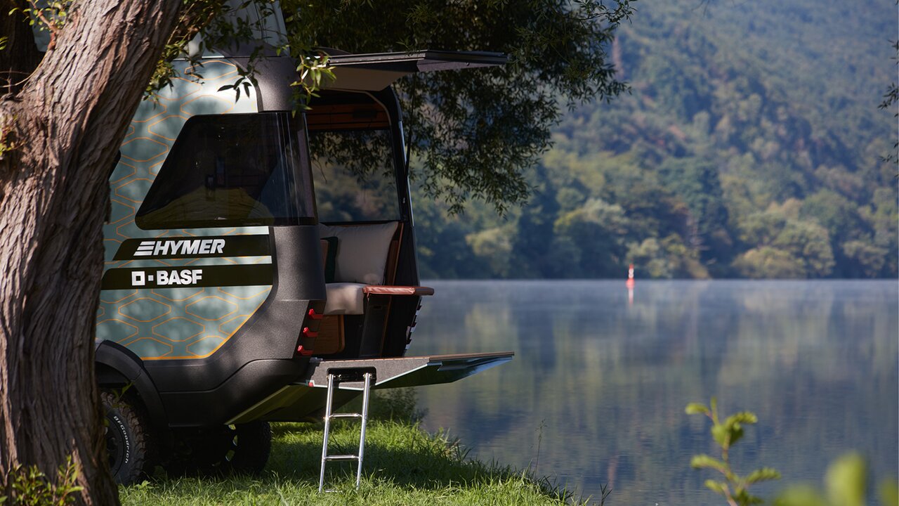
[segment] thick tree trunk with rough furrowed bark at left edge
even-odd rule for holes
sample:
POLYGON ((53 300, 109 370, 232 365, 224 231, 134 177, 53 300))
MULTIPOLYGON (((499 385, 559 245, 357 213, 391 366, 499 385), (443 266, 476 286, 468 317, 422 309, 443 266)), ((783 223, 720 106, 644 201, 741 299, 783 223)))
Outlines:
MULTIPOLYGON (((4 0, 4 2, 10 0, 4 0)), ((73 456, 82 504, 118 503, 93 379, 107 177, 182 2, 75 2, 0 124, 0 495, 73 456)), ((0 34, 2 35, 2 34, 0 34)))

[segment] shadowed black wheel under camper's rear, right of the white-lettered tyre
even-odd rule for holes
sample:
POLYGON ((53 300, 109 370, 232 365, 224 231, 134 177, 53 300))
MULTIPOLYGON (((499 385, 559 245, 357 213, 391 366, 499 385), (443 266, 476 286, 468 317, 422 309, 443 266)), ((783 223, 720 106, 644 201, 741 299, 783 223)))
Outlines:
POLYGON ((259 474, 271 453, 267 421, 182 432, 181 450, 166 465, 170 474, 259 474))

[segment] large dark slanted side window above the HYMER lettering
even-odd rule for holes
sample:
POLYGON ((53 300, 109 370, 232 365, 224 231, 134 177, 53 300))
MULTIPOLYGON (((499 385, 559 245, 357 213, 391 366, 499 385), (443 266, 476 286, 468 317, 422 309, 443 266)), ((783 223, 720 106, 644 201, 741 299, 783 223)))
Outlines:
POLYGON ((192 117, 138 210, 138 227, 315 223, 297 125, 289 113, 192 117))

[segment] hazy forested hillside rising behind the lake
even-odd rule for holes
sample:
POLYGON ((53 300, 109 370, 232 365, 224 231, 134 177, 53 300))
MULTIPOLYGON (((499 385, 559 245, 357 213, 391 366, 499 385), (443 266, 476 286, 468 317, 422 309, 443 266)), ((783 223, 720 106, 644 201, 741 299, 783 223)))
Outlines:
MULTIPOLYGON (((504 218, 418 198, 424 277, 897 276, 894 0, 641 3, 504 218)), ((535 84, 535 86, 539 86, 535 84)))

